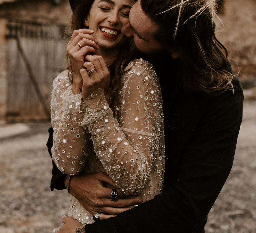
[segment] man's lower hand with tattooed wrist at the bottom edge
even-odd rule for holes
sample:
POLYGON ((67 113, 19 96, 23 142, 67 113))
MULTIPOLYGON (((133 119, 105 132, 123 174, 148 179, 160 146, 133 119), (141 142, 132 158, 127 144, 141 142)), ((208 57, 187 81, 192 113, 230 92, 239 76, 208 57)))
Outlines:
POLYGON ((84 226, 73 217, 62 217, 63 225, 57 233, 82 233, 85 232, 84 226))

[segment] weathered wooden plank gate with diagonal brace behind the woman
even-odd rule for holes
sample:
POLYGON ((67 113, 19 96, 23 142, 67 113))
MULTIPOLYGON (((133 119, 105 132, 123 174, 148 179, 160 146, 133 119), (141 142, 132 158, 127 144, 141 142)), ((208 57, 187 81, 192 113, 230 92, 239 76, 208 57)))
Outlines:
POLYGON ((65 25, 10 21, 7 121, 50 119, 52 81, 66 67, 65 25))

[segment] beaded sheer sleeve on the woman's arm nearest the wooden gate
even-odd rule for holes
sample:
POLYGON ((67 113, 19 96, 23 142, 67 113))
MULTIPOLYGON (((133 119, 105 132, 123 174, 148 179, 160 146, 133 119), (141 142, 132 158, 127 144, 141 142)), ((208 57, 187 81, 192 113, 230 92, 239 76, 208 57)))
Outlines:
POLYGON ((80 126, 83 115, 82 94, 74 95, 68 71, 53 81, 51 123, 53 127, 52 158, 63 173, 78 174, 89 154, 89 134, 80 126))

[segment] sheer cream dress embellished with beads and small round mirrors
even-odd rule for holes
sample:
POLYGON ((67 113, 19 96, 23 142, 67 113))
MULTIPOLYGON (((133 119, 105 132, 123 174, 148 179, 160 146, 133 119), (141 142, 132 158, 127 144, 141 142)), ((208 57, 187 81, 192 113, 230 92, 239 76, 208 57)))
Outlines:
MULTIPOLYGON (((120 189, 144 201, 162 192, 165 147, 161 88, 147 61, 129 63, 122 77, 119 102, 110 109, 103 89, 85 101, 74 95, 68 71, 53 81, 52 155, 60 171, 107 173, 120 189)), ((71 196, 68 215, 94 222, 71 196)))

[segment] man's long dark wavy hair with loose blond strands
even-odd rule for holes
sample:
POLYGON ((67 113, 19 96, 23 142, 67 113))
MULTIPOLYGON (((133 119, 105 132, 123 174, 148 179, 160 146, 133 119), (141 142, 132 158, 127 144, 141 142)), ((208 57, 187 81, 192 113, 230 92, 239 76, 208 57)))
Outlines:
POLYGON ((216 95, 233 90, 227 49, 215 37, 216 0, 141 0, 159 26, 154 37, 179 55, 178 79, 186 92, 216 95))

